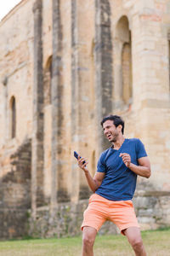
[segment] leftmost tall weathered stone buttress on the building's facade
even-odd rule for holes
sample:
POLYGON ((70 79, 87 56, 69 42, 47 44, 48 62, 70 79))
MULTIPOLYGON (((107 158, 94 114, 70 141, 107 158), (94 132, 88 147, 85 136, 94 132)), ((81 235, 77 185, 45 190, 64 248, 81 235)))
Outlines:
POLYGON ((33 6, 34 13, 34 84, 31 166, 31 207, 43 205, 43 77, 42 77, 42 1, 33 6))

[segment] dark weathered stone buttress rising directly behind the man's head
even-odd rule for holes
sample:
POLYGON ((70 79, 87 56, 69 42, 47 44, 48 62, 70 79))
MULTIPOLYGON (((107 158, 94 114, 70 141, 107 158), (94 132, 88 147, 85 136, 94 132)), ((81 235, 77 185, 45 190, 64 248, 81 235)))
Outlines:
MULTIPOLYGON (((113 61, 111 39, 111 7, 109 1, 95 1, 95 67, 96 67, 96 115, 98 123, 103 116, 111 113, 113 90, 113 61)), ((108 143, 99 127, 99 148, 108 143)))

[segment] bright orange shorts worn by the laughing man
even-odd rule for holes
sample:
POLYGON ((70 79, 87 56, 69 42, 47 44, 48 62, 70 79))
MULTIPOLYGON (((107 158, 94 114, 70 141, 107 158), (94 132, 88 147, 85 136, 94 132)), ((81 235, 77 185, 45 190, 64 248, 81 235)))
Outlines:
POLYGON ((82 230, 83 227, 89 226, 99 231, 106 220, 116 224, 121 232, 129 227, 139 228, 131 200, 110 201, 103 196, 93 194, 89 198, 88 208, 83 217, 82 230))

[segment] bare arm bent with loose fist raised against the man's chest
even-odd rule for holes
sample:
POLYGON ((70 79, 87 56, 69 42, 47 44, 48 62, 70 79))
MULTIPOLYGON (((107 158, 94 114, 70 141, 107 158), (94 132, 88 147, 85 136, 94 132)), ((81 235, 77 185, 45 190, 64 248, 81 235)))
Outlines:
POLYGON ((150 160, 147 156, 141 157, 138 159, 139 166, 134 165, 131 163, 131 157, 129 154, 122 153, 120 154, 124 164, 137 175, 142 177, 150 177, 150 160))

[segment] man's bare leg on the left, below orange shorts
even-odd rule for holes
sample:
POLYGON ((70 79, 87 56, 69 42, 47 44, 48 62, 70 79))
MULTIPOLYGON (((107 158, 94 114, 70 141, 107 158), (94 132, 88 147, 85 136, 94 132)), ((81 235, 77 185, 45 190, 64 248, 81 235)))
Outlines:
POLYGON ((84 227, 82 231, 82 256, 94 256, 93 247, 97 230, 92 227, 84 227))

